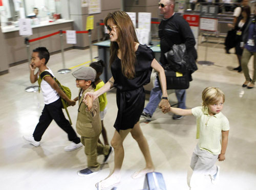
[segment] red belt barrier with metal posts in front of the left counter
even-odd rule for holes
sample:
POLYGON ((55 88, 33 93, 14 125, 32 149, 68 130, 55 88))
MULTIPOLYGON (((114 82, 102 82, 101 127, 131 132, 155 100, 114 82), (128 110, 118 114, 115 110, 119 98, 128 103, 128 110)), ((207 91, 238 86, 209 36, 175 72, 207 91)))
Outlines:
MULTIPOLYGON (((41 40, 41 39, 45 39, 45 38, 48 38, 48 37, 51 37, 51 36, 59 34, 59 36, 60 36, 60 47, 61 47, 61 58, 62 58, 63 69, 59 69, 58 73, 59 74, 67 74, 67 73, 71 72, 71 69, 68 69, 65 66, 63 40, 62 40, 63 33, 66 33, 66 31, 59 30, 57 32, 54 32, 54 33, 51 33, 51 34, 48 34, 48 35, 45 35, 45 36, 41 36, 41 37, 38 37, 38 38, 33 38, 33 39, 29 39, 28 37, 26 37, 25 38, 25 44, 26 44, 26 47, 27 47, 27 55, 28 55, 28 62, 29 62, 29 64, 30 64, 30 61, 31 61, 30 60, 30 44, 29 43, 30 42, 34 42, 34 41, 38 41, 38 40, 41 40)), ((93 59, 92 59, 92 39, 91 39, 92 32, 91 32, 91 30, 88 30, 88 31, 76 31, 76 34, 86 34, 86 33, 88 33, 88 37, 89 37, 90 57, 91 57, 91 62, 92 62, 93 59)), ((29 86, 29 87, 25 88, 25 91, 26 92, 38 91, 38 86, 37 85, 29 86)))

